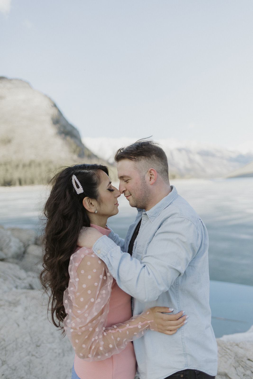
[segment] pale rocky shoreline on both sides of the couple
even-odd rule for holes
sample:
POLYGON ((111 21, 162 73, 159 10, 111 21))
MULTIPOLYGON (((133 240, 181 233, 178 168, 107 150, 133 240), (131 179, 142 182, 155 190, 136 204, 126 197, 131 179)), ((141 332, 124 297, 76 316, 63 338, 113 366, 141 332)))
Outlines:
MULTIPOLYGON (((0 226, 0 373, 2 379, 69 379, 74 352, 47 319, 41 238, 0 226)), ((49 315, 50 317, 50 315, 49 315)), ((217 338, 217 379, 253 378, 253 326, 217 338)))

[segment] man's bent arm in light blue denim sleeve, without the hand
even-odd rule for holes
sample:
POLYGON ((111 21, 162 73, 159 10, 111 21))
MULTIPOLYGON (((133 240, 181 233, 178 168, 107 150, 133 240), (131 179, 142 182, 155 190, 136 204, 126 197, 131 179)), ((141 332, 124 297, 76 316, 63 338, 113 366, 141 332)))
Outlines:
POLYGON ((157 230, 141 262, 122 252, 106 236, 94 243, 93 251, 105 262, 123 291, 148 302, 156 300, 184 274, 200 243, 201 235, 191 221, 170 218, 157 230))

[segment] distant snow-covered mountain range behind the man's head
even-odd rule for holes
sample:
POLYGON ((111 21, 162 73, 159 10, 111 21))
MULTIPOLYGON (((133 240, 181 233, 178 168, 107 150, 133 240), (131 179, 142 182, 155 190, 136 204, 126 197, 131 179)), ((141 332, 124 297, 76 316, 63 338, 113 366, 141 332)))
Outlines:
MULTIPOLYGON (((83 138, 83 143, 97 156, 114 161, 117 149, 136 141, 136 138, 83 138)), ((157 141, 168 157, 170 177, 224 177, 253 161, 253 151, 242 153, 196 141, 174 138, 157 141)))

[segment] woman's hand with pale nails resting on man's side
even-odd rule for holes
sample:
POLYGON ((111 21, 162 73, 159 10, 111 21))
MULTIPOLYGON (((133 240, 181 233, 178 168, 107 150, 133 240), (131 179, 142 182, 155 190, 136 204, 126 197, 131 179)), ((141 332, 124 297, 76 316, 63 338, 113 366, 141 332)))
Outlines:
POLYGON ((172 312, 171 308, 167 307, 152 307, 149 310, 153 313, 154 322, 156 323, 156 329, 154 330, 169 335, 175 334, 181 326, 187 323, 186 318, 189 317, 187 315, 183 316, 183 311, 176 313, 176 315, 167 315, 163 312, 172 312))

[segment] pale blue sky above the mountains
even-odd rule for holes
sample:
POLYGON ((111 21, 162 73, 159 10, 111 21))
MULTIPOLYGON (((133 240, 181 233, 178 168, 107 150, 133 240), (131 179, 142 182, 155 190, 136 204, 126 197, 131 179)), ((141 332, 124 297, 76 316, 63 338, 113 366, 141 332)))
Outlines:
POLYGON ((0 76, 85 137, 253 146, 253 0, 0 0, 0 76))

